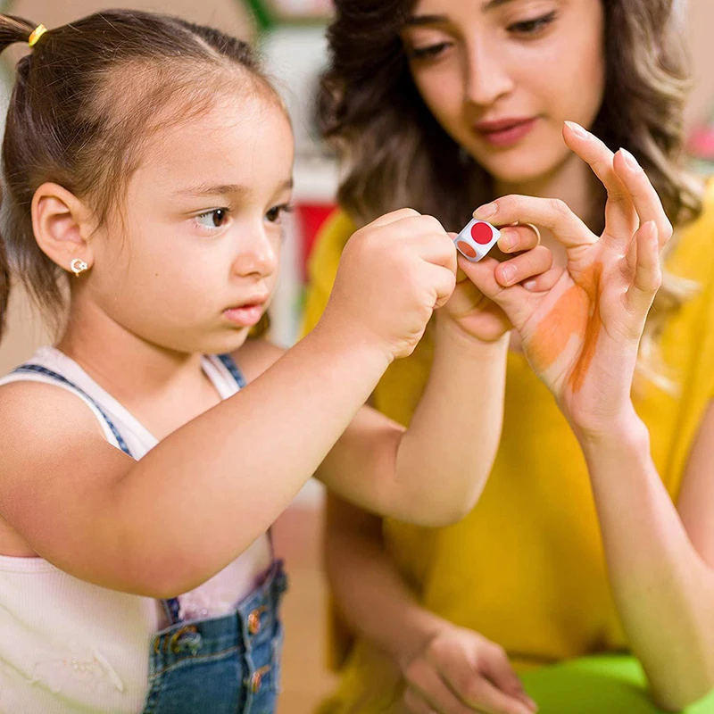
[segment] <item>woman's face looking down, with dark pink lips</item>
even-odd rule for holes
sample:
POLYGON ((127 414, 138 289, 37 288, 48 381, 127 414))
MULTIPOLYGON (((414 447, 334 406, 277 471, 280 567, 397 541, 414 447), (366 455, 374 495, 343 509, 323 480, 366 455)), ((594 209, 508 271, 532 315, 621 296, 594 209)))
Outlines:
POLYGON ((446 132, 497 182, 548 176, 565 120, 590 128, 605 83, 602 0, 419 0, 403 43, 446 132))

